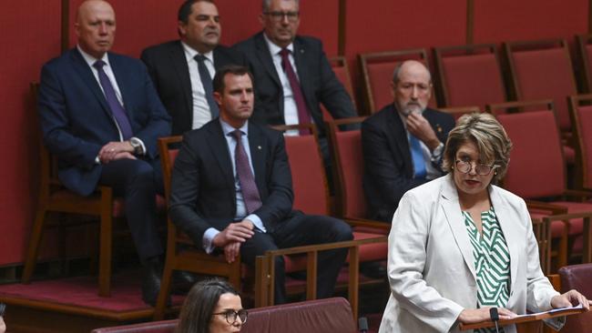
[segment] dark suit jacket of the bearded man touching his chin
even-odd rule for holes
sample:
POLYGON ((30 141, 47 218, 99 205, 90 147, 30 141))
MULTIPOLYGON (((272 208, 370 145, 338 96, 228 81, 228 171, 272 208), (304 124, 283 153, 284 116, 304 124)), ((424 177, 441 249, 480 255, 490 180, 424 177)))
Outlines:
MULTIPOLYGON (((454 127, 454 117, 430 108, 425 109, 423 115, 445 144, 448 132, 454 127)), ((362 123, 362 151, 368 216, 391 222, 403 194, 426 182, 413 179, 409 140, 393 104, 362 123)))

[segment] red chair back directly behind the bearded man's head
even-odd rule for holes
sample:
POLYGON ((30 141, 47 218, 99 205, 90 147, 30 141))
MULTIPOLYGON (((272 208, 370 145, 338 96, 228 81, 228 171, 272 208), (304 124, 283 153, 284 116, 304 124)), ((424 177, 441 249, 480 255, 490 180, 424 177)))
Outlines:
MULTIPOLYGON (((393 103, 391 82, 393 82, 394 68, 405 60, 417 60, 429 68, 429 61, 425 49, 368 53, 358 55, 362 66, 363 86, 366 107, 369 113, 393 103)), ((430 106, 435 107, 435 98, 430 100, 430 106)))

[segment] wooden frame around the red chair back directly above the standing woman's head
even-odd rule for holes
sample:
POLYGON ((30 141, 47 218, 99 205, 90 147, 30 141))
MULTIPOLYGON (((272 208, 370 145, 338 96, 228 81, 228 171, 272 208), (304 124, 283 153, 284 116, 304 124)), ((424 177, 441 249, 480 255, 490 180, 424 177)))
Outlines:
MULTIPOLYGON (((457 45, 457 46, 444 46, 434 47, 435 64, 437 68, 437 87, 440 92, 442 104, 448 106, 450 104, 450 97, 448 96, 448 88, 446 86, 446 79, 444 75, 444 62, 443 57, 453 55, 473 55, 473 54, 493 54, 495 56, 495 62, 499 70, 499 77, 502 83, 502 89, 504 90, 504 97, 507 100, 508 92, 505 86, 504 71, 499 60, 499 52, 495 44, 479 44, 479 45, 457 45), (484 52, 487 51, 487 52, 484 52)), ((453 106, 455 107, 455 106, 453 106)), ((479 107, 479 106, 476 106, 479 107)))

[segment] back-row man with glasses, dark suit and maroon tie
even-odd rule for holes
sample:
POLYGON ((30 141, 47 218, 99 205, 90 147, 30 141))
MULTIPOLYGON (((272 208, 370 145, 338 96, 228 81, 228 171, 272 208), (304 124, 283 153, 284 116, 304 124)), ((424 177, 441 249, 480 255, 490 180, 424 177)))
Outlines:
POLYGON ((319 125, 328 163, 321 104, 333 118, 357 116, 352 98, 333 73, 321 41, 296 35, 299 0, 263 0, 262 9, 263 31, 235 45, 255 76, 255 114, 262 113, 270 125, 319 125))

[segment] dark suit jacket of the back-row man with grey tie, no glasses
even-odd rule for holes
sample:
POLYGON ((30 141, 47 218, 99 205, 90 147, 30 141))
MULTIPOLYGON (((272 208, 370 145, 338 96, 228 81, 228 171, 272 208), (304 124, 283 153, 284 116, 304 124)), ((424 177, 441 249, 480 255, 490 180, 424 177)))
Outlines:
MULTIPOLYGON (((180 136, 189 131, 193 123, 193 97, 187 58, 180 40, 150 46, 142 51, 140 58, 148 66, 158 96, 172 117, 172 134, 180 136)), ((239 52, 217 46, 214 49, 214 67, 218 70, 230 64, 247 65, 239 52)))

